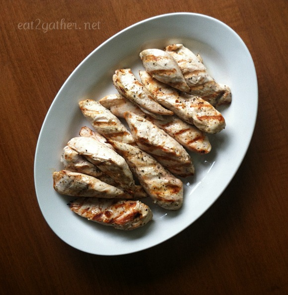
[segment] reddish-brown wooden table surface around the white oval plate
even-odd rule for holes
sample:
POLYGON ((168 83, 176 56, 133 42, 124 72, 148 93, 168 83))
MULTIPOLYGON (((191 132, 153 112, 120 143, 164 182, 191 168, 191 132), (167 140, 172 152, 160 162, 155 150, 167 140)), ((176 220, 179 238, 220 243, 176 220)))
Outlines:
POLYGON ((0 294, 288 294, 288 2, 0 5, 0 294), (175 237, 129 255, 76 250, 51 230, 37 203, 33 167, 43 120, 62 84, 98 45, 140 20, 178 11, 213 16, 247 45, 259 87, 251 145, 216 203, 175 237), (61 19, 96 24, 81 31, 42 27, 61 19))

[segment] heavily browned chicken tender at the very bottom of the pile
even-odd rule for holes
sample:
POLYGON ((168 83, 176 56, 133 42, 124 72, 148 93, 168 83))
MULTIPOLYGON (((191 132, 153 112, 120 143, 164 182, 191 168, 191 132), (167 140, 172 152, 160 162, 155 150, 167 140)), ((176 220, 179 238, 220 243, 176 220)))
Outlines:
POLYGON ((150 208, 140 201, 78 198, 68 205, 81 217, 122 230, 136 229, 153 217, 150 208))

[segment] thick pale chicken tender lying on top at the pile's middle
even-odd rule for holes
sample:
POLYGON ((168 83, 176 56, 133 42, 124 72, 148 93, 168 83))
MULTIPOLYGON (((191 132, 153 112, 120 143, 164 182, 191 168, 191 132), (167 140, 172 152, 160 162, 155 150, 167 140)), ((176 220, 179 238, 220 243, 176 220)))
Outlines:
POLYGON ((194 175, 190 155, 176 140, 141 116, 130 112, 124 116, 139 148, 151 154, 174 175, 194 175))

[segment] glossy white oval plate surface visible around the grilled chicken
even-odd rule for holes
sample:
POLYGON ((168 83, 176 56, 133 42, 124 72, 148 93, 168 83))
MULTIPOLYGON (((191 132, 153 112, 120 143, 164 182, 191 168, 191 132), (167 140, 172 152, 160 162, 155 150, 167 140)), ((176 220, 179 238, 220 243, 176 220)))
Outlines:
POLYGON ((99 255, 141 251, 176 235, 198 219, 229 184, 250 144, 257 117, 258 88, 251 55, 241 38, 222 22, 201 14, 172 13, 155 16, 117 33, 87 56, 55 97, 44 120, 35 154, 37 199, 45 220, 66 243, 99 255), (212 151, 192 154, 196 174, 185 179, 184 205, 178 212, 151 206, 153 220, 133 231, 121 231, 87 221, 70 211, 72 199, 53 189, 52 173, 63 169, 60 157, 67 142, 82 126, 78 101, 101 99, 117 93, 112 83, 116 69, 144 70, 139 53, 182 43, 199 53, 217 82, 232 91, 232 103, 219 110, 226 128, 209 136, 212 151))

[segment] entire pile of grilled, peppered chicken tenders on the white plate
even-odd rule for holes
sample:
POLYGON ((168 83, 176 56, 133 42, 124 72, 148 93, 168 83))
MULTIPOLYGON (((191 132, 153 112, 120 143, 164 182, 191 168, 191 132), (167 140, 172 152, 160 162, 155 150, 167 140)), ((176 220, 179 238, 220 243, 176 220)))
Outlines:
POLYGON ((53 173, 54 189, 77 197, 69 203, 73 212, 124 230, 152 219, 143 198, 181 208, 179 178, 195 173, 188 151, 210 152, 207 134, 225 128, 216 108, 231 102, 230 88, 182 44, 145 49, 140 58, 140 79, 131 69, 116 70, 117 94, 79 102, 93 130, 81 128, 63 149, 64 169, 53 173))

